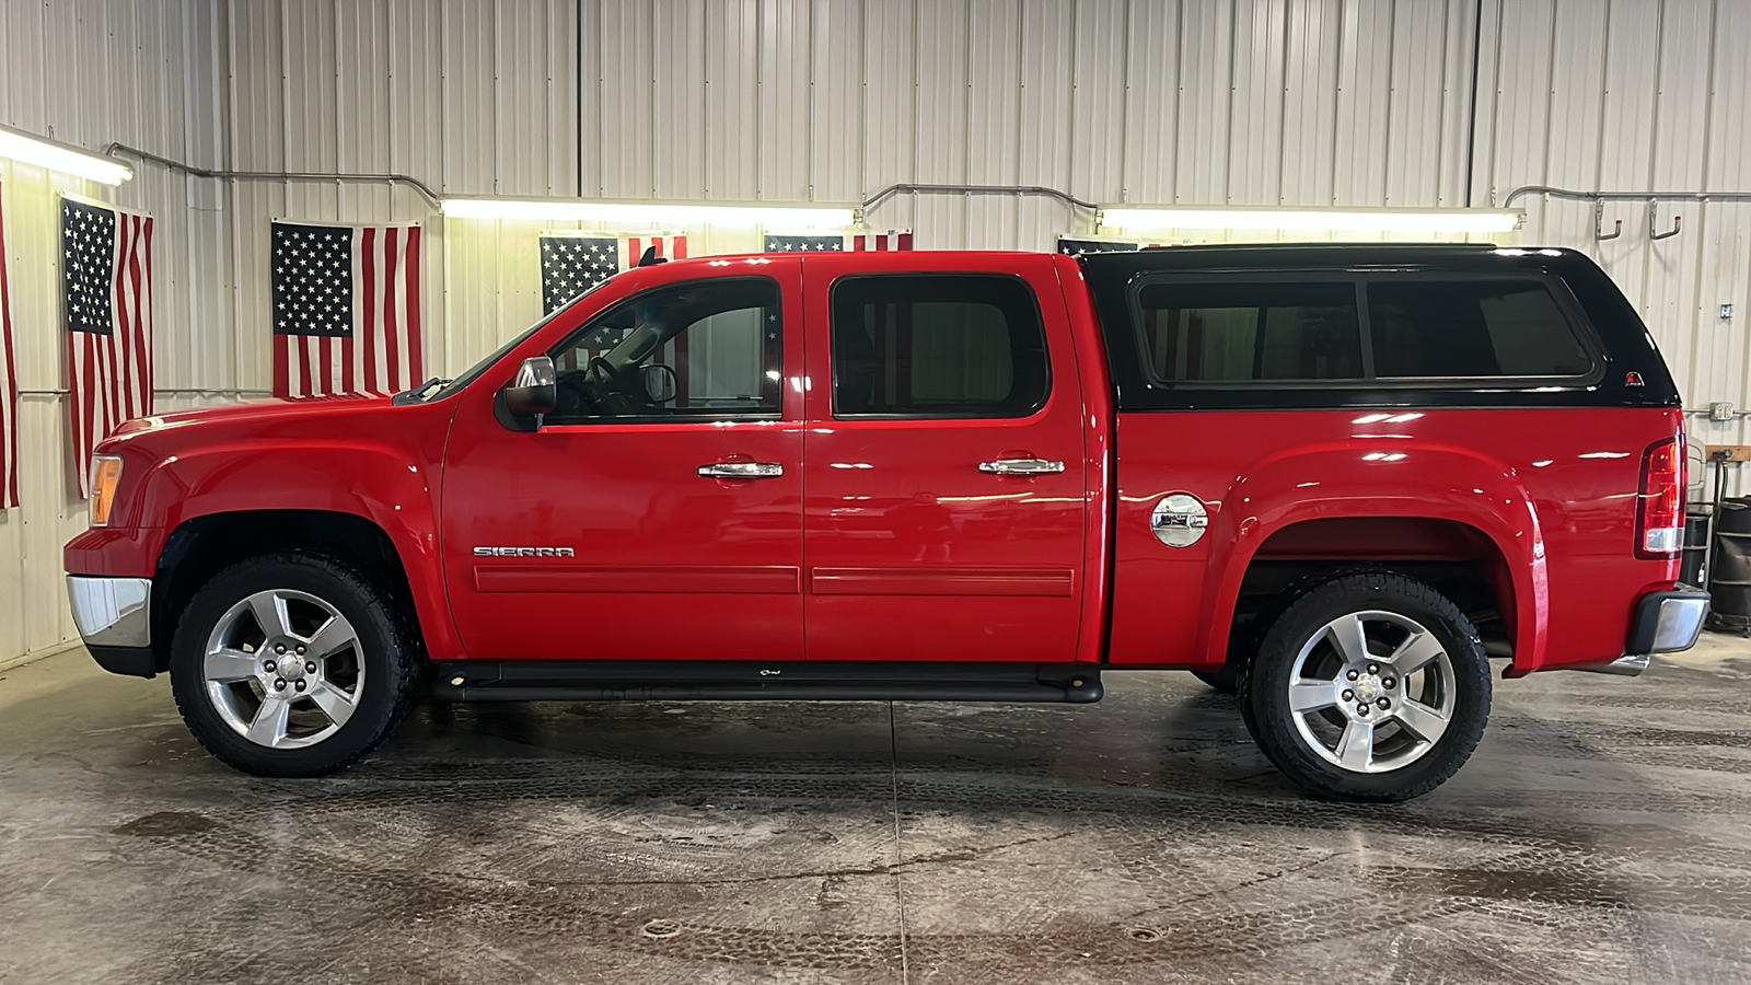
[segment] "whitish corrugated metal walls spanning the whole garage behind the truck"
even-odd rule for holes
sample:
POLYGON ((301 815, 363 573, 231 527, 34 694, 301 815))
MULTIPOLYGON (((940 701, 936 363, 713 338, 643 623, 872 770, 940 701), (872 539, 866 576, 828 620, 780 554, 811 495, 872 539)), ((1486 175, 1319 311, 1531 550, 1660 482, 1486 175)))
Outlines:
MULTIPOLYGON (((0 0, 0 116, 89 147, 403 172, 450 195, 854 203, 972 182, 1103 203, 1450 207, 1522 184, 1751 189, 1746 51, 1744 0, 0 0)), ((25 380, 56 391, 60 186, 23 167, 0 179, 25 380)), ((427 223, 440 372, 539 315, 546 224, 443 221, 406 186, 147 165, 114 200, 163 221, 170 389, 266 389, 282 216, 427 223)), ((1684 231, 1660 242, 1642 205, 1613 205, 1607 228, 1627 231, 1602 244, 1590 203, 1518 205, 1529 223, 1509 238, 1597 256, 1691 405, 1751 403, 1751 205, 1662 207, 1684 231)), ((900 195, 868 216, 926 249, 1049 249, 1089 221, 1016 195, 900 195)), ((692 233, 693 252, 758 245, 753 230, 692 233)), ((81 508, 63 421, 58 394, 26 396, 32 501, 0 517, 0 659, 70 633, 58 545, 81 508)), ((1697 431, 1740 440, 1737 422, 1697 431)))

